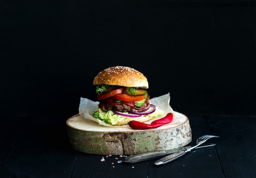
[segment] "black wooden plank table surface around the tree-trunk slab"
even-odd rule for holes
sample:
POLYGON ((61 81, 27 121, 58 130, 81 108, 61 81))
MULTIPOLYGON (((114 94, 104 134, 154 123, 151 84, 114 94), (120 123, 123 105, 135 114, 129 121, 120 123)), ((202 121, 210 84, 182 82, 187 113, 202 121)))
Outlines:
POLYGON ((254 177, 256 175, 255 116, 189 116, 192 142, 203 135, 220 138, 215 147, 196 149, 162 166, 158 159, 127 164, 124 157, 85 154, 67 137, 69 118, 1 118, 1 178, 178 178, 254 177), (104 158, 105 161, 101 161, 104 158))

